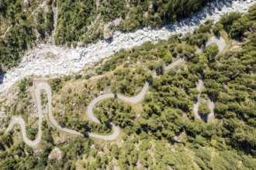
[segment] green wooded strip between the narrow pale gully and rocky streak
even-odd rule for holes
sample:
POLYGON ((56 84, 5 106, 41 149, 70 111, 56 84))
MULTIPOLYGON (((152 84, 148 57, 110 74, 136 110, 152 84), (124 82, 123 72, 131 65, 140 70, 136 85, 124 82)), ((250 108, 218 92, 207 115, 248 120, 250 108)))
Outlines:
MULTIPOLYGON (((95 1, 57 0, 58 21, 55 35, 56 44, 67 46, 80 42, 87 32, 87 26, 93 21, 96 12, 95 1)), ((95 37, 98 39, 99 37, 95 37)))

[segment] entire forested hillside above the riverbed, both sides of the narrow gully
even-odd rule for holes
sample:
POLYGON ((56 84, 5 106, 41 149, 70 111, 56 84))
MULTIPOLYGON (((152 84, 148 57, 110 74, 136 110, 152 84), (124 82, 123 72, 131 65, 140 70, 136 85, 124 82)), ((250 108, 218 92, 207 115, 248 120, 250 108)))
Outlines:
POLYGON ((111 37, 112 30, 132 31, 163 26, 189 16, 210 0, 64 1, 2 0, 0 2, 0 71, 16 66, 26 49, 54 34, 56 45, 77 46, 111 37), (112 22, 115 21, 115 22, 112 22), (105 33, 104 33, 105 30, 105 33))

